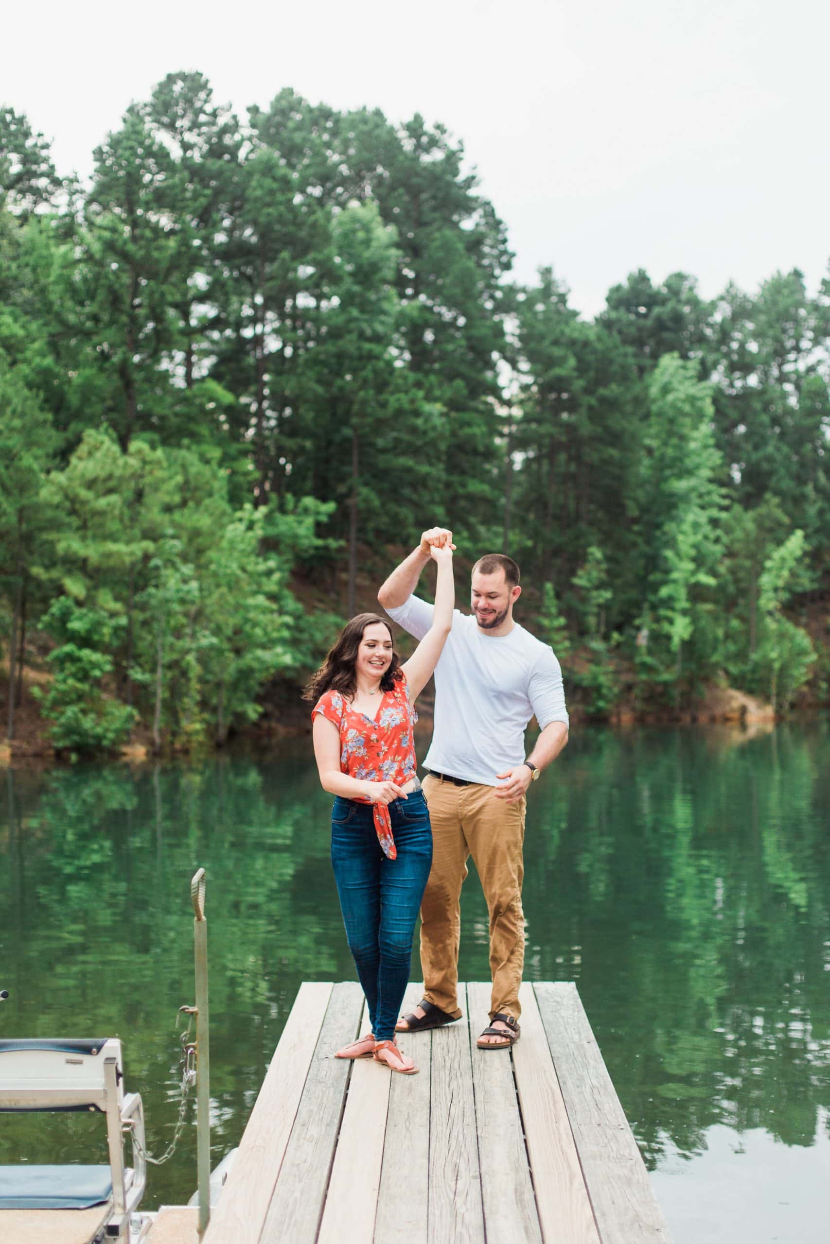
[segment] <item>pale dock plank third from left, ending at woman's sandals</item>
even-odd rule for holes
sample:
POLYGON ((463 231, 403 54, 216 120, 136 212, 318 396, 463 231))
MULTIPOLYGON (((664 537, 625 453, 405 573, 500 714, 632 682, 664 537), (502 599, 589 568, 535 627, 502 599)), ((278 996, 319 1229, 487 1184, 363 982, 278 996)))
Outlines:
MULTIPOLYGON (((363 1016, 365 1025, 368 1018, 363 1016)), ((365 1031, 366 1028, 361 1028, 365 1031)), ((348 1096, 331 1168, 320 1244, 372 1244, 381 1188, 383 1140, 392 1072, 358 1059, 352 1064, 348 1096)), ((404 1077, 408 1079, 408 1077, 404 1077)))

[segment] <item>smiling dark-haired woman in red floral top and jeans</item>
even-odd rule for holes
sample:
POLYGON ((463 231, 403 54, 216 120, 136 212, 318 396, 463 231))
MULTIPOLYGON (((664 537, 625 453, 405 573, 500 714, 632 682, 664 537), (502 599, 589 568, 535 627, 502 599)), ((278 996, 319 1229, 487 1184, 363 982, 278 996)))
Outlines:
POLYGON ((429 811, 416 774, 414 702, 453 622, 453 554, 432 549, 438 586, 432 628, 401 664, 375 613, 343 628, 306 687, 324 790, 335 795, 331 863, 348 948, 366 994, 371 1033, 337 1052, 418 1069, 398 1050, 394 1024, 409 982, 412 934, 432 863, 429 811))

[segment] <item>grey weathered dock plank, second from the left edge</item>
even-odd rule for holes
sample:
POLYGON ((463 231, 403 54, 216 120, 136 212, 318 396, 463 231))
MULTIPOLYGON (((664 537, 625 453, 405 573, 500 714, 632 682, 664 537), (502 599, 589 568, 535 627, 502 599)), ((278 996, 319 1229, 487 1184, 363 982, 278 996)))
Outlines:
POLYGON ((363 1011, 356 982, 331 991, 260 1244, 315 1244, 346 1101, 351 1062, 333 1054, 353 1041, 363 1011))

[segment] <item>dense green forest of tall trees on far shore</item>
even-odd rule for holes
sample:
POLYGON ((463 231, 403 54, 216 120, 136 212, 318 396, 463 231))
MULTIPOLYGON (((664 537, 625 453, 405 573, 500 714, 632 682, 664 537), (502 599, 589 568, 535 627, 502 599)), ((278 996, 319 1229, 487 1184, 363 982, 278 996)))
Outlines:
POLYGON ((830 279, 590 320, 497 208, 444 127, 287 88, 170 75, 87 182, 0 107, 10 739, 34 697, 61 754, 223 744, 436 522, 462 603, 515 557, 584 715, 829 702, 830 279))

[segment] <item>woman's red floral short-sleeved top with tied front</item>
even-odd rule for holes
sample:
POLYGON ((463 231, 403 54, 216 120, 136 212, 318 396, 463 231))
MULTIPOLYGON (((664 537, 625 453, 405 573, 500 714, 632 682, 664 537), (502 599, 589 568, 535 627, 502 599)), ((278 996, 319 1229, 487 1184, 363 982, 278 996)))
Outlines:
MULTIPOLYGON (((413 726, 418 714, 409 699, 409 684, 401 672, 391 692, 383 692, 377 717, 357 713, 340 692, 326 692, 311 710, 321 713, 340 730, 340 770, 358 781, 393 781, 403 786, 416 775, 413 726)), ((371 804, 358 799, 358 804, 371 804)), ((375 829, 383 853, 397 858, 389 810, 375 804, 375 829)))

